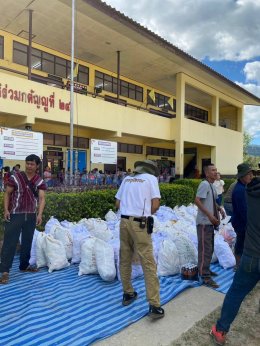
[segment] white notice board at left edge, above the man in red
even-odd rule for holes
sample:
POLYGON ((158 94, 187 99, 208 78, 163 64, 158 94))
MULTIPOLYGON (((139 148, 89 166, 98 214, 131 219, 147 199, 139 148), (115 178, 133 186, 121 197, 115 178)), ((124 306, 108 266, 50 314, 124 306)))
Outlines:
POLYGON ((0 127, 0 158, 24 160, 30 154, 43 156, 43 134, 0 127))

